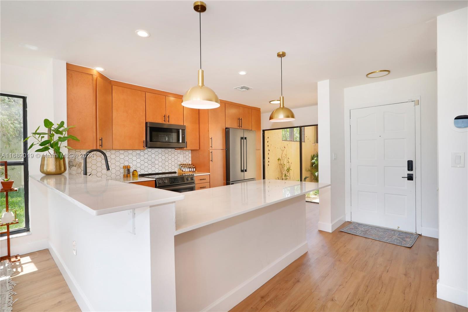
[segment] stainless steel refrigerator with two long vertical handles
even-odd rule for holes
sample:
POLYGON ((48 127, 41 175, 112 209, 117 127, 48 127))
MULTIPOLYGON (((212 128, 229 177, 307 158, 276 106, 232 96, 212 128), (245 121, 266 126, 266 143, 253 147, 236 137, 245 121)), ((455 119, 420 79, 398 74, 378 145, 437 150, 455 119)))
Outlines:
POLYGON ((255 180, 255 131, 226 128, 226 184, 255 180))

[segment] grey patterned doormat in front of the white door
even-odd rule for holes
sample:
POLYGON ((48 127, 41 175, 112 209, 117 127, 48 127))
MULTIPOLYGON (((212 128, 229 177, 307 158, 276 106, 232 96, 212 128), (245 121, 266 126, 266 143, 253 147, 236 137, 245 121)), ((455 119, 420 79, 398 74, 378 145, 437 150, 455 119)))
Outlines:
POLYGON ((411 247, 414 242, 416 242, 418 236, 414 233, 380 228, 378 226, 358 222, 353 222, 340 231, 404 247, 411 247))

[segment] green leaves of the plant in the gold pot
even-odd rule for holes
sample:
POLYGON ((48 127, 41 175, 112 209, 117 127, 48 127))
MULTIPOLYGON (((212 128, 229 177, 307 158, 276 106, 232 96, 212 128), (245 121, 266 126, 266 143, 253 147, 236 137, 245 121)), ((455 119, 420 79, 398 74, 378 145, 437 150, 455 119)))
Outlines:
MULTIPOLYGON (((67 134, 68 130, 74 126, 65 126, 65 121, 60 121, 59 124, 54 125, 49 119, 44 119, 44 127, 47 129, 47 132, 38 132, 40 126, 37 127, 36 131, 31 133, 32 135, 24 139, 24 141, 34 138, 37 142, 32 142, 29 145, 29 149, 32 149, 33 146, 40 146, 39 149, 36 149, 35 152, 48 152, 52 156, 57 156, 59 159, 63 159, 63 153, 60 151, 62 143, 67 140, 80 141, 76 136, 67 134)), ((73 149, 69 146, 65 146, 67 149, 73 149)))

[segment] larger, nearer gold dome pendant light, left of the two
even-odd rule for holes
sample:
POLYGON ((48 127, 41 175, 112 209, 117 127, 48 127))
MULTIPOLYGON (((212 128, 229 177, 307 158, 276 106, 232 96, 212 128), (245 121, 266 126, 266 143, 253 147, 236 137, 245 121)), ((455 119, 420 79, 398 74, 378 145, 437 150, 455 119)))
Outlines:
POLYGON ((206 4, 202 1, 195 1, 193 9, 200 16, 200 69, 198 69, 198 84, 191 87, 182 97, 182 105, 189 108, 210 109, 219 107, 219 97, 216 93, 205 86, 202 69, 202 17, 206 11, 206 4))

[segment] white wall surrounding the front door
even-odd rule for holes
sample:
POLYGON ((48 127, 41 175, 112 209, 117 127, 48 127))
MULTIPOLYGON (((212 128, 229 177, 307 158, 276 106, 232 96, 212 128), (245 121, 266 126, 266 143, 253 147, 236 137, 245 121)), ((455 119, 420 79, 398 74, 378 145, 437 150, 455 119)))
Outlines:
MULTIPOLYGON (((421 234, 438 234, 437 210, 437 82, 436 72, 369 83, 344 89, 345 151, 350 162, 350 109, 393 104, 420 98, 421 111, 421 234)), ((419 164, 416 163, 416 166, 419 164)), ((347 220, 350 220, 350 171, 346 166, 347 220)), ((419 231, 418 231, 419 232, 419 231)))

